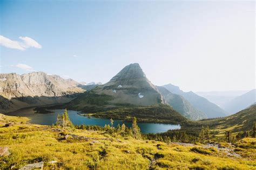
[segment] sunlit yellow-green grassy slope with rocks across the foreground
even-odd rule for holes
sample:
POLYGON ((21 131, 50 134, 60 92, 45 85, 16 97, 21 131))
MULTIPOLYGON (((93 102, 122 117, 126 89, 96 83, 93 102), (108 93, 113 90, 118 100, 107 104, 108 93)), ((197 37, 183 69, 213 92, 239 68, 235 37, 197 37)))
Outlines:
POLYGON ((40 162, 44 169, 255 169, 255 138, 235 145, 184 144, 123 137, 114 132, 26 124, 0 114, 0 168, 40 162), (6 123, 11 123, 5 126, 6 123), (3 150, 1 150, 3 151, 3 150))

